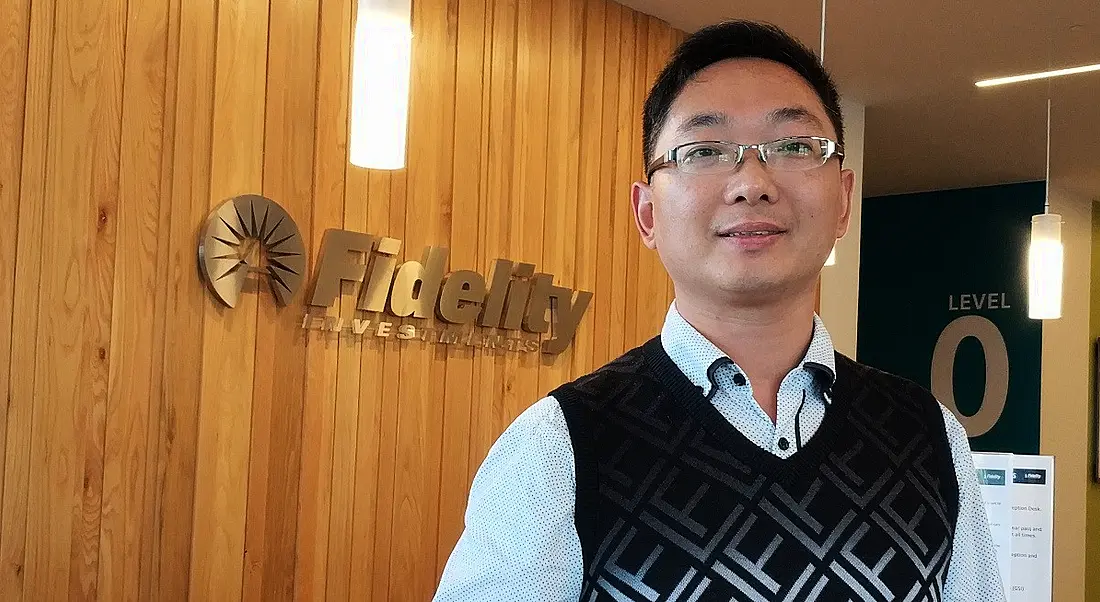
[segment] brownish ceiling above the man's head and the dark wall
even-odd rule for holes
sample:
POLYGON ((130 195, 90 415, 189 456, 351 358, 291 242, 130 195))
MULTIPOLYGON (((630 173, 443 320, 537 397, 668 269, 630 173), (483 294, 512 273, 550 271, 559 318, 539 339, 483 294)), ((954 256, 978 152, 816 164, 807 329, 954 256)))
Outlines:
MULTIPOLYGON (((683 31, 776 23, 817 48, 816 1, 620 0, 683 31)), ((864 195, 1036 180, 1100 198, 1100 73, 993 88, 979 79, 1100 63, 1100 0, 834 0, 825 65, 867 107, 864 195), (1053 65, 1053 67, 1052 67, 1053 65)))

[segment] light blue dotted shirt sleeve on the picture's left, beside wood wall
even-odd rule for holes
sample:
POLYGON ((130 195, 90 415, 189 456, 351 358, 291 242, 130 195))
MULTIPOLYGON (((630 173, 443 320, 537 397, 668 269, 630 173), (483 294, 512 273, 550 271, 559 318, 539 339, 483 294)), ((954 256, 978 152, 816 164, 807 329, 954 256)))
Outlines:
POLYGON ((493 444, 436 602, 575 602, 583 555, 573 522, 576 471, 561 406, 544 397, 493 444))

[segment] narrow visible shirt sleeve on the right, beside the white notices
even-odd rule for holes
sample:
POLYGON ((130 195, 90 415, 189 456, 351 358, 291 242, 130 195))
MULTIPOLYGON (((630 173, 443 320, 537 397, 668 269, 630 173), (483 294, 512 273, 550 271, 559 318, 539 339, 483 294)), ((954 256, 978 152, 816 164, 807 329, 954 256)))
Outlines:
POLYGON ((1005 602, 989 517, 970 456, 970 440, 955 415, 943 404, 939 409, 944 414, 959 484, 959 514, 955 523, 952 563, 944 584, 944 602, 1005 602))

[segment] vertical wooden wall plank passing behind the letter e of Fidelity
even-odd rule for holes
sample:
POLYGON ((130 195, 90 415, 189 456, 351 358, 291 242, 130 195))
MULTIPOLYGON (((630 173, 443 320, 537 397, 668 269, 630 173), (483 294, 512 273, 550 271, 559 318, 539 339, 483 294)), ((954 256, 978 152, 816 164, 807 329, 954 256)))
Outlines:
MULTIPOLYGON (((482 86, 485 66, 485 0, 458 3, 458 50, 454 81, 454 153, 451 198, 450 270, 483 270, 480 244, 480 195, 484 155, 482 86)), ((481 271, 485 274, 486 272, 481 271)), ((471 327, 464 327, 470 329, 471 327)), ((435 576, 442 573, 448 556, 462 533, 470 480, 470 424, 476 372, 472 348, 457 348, 448 353, 447 390, 443 404, 443 433, 439 484, 439 538, 436 546, 435 576)), ((432 583, 435 584, 435 582, 432 583)))

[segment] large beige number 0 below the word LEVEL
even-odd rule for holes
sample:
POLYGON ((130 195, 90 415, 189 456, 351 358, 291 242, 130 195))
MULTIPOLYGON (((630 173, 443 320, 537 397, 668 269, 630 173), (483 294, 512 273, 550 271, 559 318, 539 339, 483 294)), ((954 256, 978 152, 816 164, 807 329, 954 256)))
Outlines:
POLYGON ((944 328, 932 353, 932 394, 955 413, 970 437, 993 428, 1009 397, 1009 349, 997 325, 981 316, 964 316, 944 328), (986 353, 986 392, 974 416, 964 416, 955 404, 955 353, 967 337, 978 339, 986 353))

